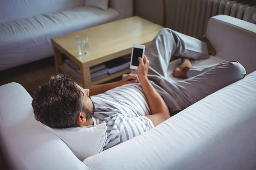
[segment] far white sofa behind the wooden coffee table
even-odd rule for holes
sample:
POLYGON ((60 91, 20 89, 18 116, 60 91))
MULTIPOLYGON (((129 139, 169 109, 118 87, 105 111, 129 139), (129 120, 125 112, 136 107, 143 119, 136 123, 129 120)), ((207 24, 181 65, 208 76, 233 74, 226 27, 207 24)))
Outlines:
POLYGON ((1 0, 0 71, 52 56, 52 37, 133 15, 132 0, 109 0, 107 10, 84 2, 1 0))

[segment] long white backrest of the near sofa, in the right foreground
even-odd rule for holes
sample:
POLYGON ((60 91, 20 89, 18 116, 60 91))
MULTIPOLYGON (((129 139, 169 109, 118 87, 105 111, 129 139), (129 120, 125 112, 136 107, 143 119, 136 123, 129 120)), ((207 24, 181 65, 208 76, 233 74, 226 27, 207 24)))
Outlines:
POLYGON ((93 170, 254 170, 256 71, 84 160, 93 170))

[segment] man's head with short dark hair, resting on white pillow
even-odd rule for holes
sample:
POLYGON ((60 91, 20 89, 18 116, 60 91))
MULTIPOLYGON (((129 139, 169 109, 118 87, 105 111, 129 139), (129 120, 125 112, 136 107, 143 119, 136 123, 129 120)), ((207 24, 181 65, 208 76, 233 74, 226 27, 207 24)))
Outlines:
POLYGON ((64 74, 52 76, 39 86, 32 107, 35 119, 54 128, 92 125, 94 104, 89 89, 83 89, 64 74))

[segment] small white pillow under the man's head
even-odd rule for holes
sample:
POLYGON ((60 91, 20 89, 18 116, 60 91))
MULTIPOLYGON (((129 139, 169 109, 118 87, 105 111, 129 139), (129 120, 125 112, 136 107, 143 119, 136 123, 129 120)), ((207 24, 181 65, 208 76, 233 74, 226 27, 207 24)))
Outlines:
POLYGON ((107 127, 104 123, 66 129, 47 128, 65 142, 81 161, 101 152, 107 139, 107 127))

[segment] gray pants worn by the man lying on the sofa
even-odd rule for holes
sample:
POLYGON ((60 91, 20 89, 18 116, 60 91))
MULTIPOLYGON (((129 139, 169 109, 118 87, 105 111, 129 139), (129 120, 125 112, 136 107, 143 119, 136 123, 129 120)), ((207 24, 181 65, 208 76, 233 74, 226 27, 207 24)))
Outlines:
POLYGON ((207 59, 209 55, 205 42, 168 28, 159 32, 145 55, 150 62, 148 78, 163 97, 171 116, 246 75, 239 62, 228 61, 193 67, 187 79, 170 80, 167 69, 172 55, 192 59, 207 59))

